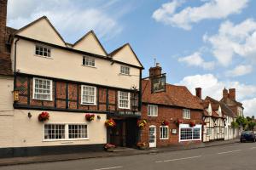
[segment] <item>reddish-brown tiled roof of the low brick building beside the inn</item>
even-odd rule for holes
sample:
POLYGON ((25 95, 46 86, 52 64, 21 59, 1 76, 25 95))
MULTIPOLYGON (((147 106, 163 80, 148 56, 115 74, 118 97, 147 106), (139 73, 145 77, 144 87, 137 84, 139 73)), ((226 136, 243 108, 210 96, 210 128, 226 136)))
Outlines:
POLYGON ((179 106, 188 109, 203 110, 201 100, 189 92, 184 86, 166 83, 166 92, 151 94, 150 80, 143 80, 143 102, 159 105, 179 106))

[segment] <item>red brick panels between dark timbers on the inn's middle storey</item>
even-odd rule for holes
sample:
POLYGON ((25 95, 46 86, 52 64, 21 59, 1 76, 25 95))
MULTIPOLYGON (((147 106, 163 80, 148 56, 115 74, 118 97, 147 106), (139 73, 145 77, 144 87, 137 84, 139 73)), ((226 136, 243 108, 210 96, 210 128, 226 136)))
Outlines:
MULTIPOLYGON (((20 92, 20 100, 16 104, 27 105, 28 100, 28 81, 29 78, 25 76, 17 77, 16 87, 20 92)), ((83 111, 124 111, 118 109, 118 90, 107 88, 97 88, 98 99, 96 104, 99 105, 81 105, 81 85, 77 83, 69 82, 54 82, 52 91, 52 101, 43 101, 33 99, 33 79, 30 78, 30 106, 49 106, 52 108, 66 109, 66 98, 68 97, 68 109, 83 110, 83 111), (56 101, 55 101, 55 86, 56 86, 56 101), (67 89, 68 88, 68 96, 67 89), (107 95, 108 93, 108 95, 107 95), (78 97, 79 94, 79 97, 78 97), (107 99, 108 96, 108 99, 107 99), (79 99, 79 102, 77 101, 79 99), (108 102, 107 102, 108 100, 108 102), (79 103, 79 105, 78 105, 79 103), (108 108, 107 108, 108 103, 108 108)), ((131 110, 125 110, 131 111, 131 110)))

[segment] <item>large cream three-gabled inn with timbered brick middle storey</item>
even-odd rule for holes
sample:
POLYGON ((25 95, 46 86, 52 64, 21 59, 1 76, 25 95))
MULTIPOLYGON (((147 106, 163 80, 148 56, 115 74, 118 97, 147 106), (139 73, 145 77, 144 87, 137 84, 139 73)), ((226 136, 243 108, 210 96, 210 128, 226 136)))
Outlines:
POLYGON ((137 144, 143 65, 131 46, 108 54, 93 31, 67 43, 45 16, 14 31, 2 20, 6 8, 1 0, 1 65, 6 68, 0 73, 9 76, 4 80, 9 88, 2 88, 6 99, 0 100, 0 124, 6 126, 0 128, 0 156, 137 144), (8 54, 3 46, 11 49, 8 54), (40 122, 45 112, 49 120, 40 122), (85 115, 95 119, 87 121, 85 115), (109 118, 116 122, 114 130, 105 127, 109 118))

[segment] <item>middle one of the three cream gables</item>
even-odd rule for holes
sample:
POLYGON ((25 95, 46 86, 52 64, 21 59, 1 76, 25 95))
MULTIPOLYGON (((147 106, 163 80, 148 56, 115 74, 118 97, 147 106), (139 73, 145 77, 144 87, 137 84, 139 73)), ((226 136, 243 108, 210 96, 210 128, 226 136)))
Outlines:
POLYGON ((77 42, 73 44, 73 48, 92 54, 99 54, 103 56, 108 55, 99 39, 96 37, 94 31, 87 32, 84 37, 81 37, 77 42))

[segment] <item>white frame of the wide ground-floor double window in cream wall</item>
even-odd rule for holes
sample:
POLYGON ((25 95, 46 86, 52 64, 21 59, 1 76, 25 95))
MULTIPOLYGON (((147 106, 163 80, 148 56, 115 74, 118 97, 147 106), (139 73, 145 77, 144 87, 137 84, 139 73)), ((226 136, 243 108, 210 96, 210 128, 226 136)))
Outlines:
POLYGON ((73 140, 88 140, 90 139, 89 135, 89 125, 87 123, 83 123, 83 122, 54 122, 54 123, 45 123, 44 125, 64 125, 65 128, 65 138, 64 139, 44 139, 44 128, 43 127, 43 142, 52 142, 52 141, 73 141, 73 140), (86 125, 87 126, 87 138, 76 138, 76 139, 71 139, 69 138, 69 129, 68 129, 68 125, 86 125))

